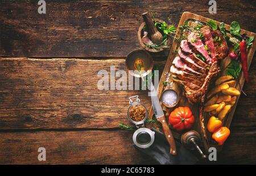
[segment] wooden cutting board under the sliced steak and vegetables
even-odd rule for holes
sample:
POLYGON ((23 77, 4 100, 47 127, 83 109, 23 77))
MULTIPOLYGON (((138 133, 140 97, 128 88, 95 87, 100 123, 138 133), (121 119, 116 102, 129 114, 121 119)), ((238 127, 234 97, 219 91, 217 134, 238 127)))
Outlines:
MULTIPOLYGON (((201 22, 203 25, 205 25, 209 20, 210 19, 205 18, 205 17, 200 16, 200 15, 192 14, 190 12, 184 12, 183 15, 181 16, 179 25, 177 27, 176 38, 180 38, 180 36, 182 34, 182 30, 183 30, 183 29, 180 29, 180 26, 183 25, 184 22, 188 21, 188 25, 195 26, 197 21, 201 22)), ((234 19, 234 20, 236 20, 236 19, 234 19)), ((219 25, 220 22, 217 22, 217 24, 219 25)), ((229 35, 230 25, 225 24, 225 28, 226 28, 227 34, 229 35)), ((243 29, 241 29, 241 33, 242 34, 245 33, 247 37, 254 36, 253 45, 247 51, 247 64, 248 64, 248 69, 249 69, 251 61, 253 59, 254 51, 255 51, 255 48, 256 48, 256 34, 253 33, 253 32, 245 31, 243 29)), ((164 91, 163 82, 171 80, 171 79, 169 79, 169 77, 171 77, 170 76, 170 67, 172 65, 172 61, 178 55, 176 51, 179 48, 179 45, 180 45, 180 42, 174 40, 174 42, 172 44, 172 48, 171 48, 170 53, 169 53, 168 58, 167 58, 166 66, 164 67, 163 74, 162 74, 162 76, 159 80, 159 85, 158 85, 158 97, 159 98, 162 95, 162 92, 164 91)), ((226 68, 226 66, 228 66, 229 63, 230 63, 230 58, 229 57, 226 57, 224 60, 222 60, 220 62, 220 67, 221 67, 220 75, 225 75, 224 68, 226 68)), ((245 79, 243 77, 243 72, 242 71, 240 73, 240 76, 239 76, 238 80, 240 81, 241 87, 243 87, 243 83, 245 82, 245 79)), ((240 88, 239 84, 236 85, 236 88, 241 92, 241 88, 240 88)), ((225 117, 224 121, 222 122, 222 126, 226 126, 226 127, 230 126, 230 123, 232 122, 232 118, 233 118, 233 115, 234 115, 234 111, 236 110, 236 106, 237 106, 237 102, 239 100, 239 97, 240 96, 237 97, 236 104, 232 107, 232 110, 230 111, 230 113, 227 115, 227 117, 225 117)), ((201 134, 200 119, 199 119, 199 108, 200 108, 200 106, 197 105, 197 104, 194 104, 194 105, 189 104, 188 101, 187 101, 187 98, 184 96, 184 92, 183 92, 183 96, 181 96, 181 100, 180 100, 179 104, 177 104, 177 106, 175 106, 175 108, 178 107, 178 106, 189 106, 191 108, 191 110, 193 111, 193 114, 195 115, 195 123, 192 127, 192 130, 196 130, 197 132, 199 132, 199 134, 201 134)), ((167 108, 165 106, 162 105, 162 107, 163 107, 163 110, 167 110, 167 108)), ((153 115, 154 115, 154 111, 152 111, 152 106, 151 106, 148 118, 151 119, 153 115)), ((208 119, 209 119, 209 115, 205 115, 205 122, 204 122, 205 126, 207 125, 208 119)), ((170 126, 170 128, 172 128, 172 127, 170 126)), ((172 129, 172 132, 174 134, 174 137, 176 139, 180 140, 180 137, 183 134, 183 132, 177 132, 174 129, 172 129)), ((231 133, 232 133, 232 131, 231 131, 231 133)), ((201 134, 201 136, 202 136, 202 134, 201 134)), ((203 139, 203 144, 204 144, 205 151, 208 151, 209 147, 216 147, 217 151, 220 151, 222 149, 222 145, 220 146, 220 145, 216 145, 216 144, 213 143, 213 141, 211 139, 211 134, 208 131, 207 131, 207 139, 208 140, 203 138, 203 136, 202 136, 202 139, 203 139)))

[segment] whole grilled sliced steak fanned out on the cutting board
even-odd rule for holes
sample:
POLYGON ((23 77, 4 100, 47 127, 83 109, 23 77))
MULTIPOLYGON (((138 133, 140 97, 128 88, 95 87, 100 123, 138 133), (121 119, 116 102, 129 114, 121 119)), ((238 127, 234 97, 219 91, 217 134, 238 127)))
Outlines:
POLYGON ((203 41, 199 31, 191 32, 187 40, 181 41, 179 57, 174 59, 170 68, 174 81, 183 85, 185 95, 192 104, 204 104, 210 80, 220 71, 217 60, 228 54, 228 45, 220 31, 203 27, 200 32, 204 35, 203 41), (197 54, 203 56, 205 62, 197 54))

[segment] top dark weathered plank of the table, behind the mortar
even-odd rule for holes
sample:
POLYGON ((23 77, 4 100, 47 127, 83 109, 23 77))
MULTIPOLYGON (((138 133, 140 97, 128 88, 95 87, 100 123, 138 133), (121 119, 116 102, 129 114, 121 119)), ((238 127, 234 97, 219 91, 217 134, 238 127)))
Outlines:
POLYGON ((184 11, 243 29, 254 28, 253 1, 218 1, 209 14, 205 1, 47 1, 38 14, 36 1, 0 2, 0 55, 8 57, 125 56, 140 48, 137 30, 143 11, 177 25, 184 11))

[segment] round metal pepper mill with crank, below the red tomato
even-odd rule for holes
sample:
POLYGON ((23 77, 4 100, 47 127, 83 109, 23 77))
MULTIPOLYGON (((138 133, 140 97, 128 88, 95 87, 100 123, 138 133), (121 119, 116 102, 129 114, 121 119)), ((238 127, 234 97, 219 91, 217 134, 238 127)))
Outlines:
POLYGON ((204 154, 199 145, 197 145, 197 143, 199 143, 201 140, 200 135, 198 132, 191 130, 188 132, 185 132, 182 136, 181 136, 181 143, 187 147, 188 149, 196 149, 200 154, 201 154, 201 158, 207 158, 207 155, 204 154))

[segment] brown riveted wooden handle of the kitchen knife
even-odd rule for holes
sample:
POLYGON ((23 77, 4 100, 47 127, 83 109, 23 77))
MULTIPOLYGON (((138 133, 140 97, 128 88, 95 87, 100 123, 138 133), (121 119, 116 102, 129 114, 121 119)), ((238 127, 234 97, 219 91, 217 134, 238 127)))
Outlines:
POLYGON ((164 136, 166 136, 166 140, 168 141, 168 143, 170 145, 170 153, 177 154, 174 136, 172 135, 172 132, 166 122, 166 117, 164 117, 164 115, 162 117, 159 117, 158 122, 160 122, 162 124, 164 136))

